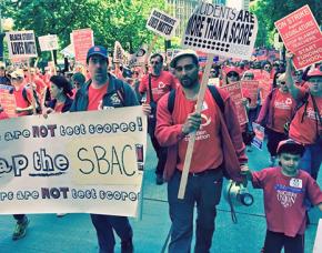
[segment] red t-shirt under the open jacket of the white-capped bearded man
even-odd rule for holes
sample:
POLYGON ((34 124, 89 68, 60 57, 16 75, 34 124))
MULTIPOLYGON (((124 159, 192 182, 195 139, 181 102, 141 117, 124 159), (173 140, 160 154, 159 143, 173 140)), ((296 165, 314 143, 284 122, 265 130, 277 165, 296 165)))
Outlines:
MULTIPOLYGON (((175 104, 180 104, 181 107, 180 110, 173 110, 173 119, 177 121, 175 124, 183 124, 188 114, 194 111, 197 101, 187 100, 182 89, 177 90, 175 100, 178 100, 175 104)), ((220 109, 214 104, 213 98, 207 89, 201 111, 202 126, 197 131, 190 172, 202 172, 208 169, 215 169, 223 161, 219 111, 220 109)), ((188 142, 189 135, 179 141, 179 160, 177 163, 179 170, 183 170, 188 142)))

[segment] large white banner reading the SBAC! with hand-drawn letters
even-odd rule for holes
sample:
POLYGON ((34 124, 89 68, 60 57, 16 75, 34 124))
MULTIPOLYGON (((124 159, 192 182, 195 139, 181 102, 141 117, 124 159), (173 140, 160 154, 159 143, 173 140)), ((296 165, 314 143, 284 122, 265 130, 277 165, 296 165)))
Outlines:
POLYGON ((0 122, 0 213, 135 216, 145 119, 131 107, 0 122))

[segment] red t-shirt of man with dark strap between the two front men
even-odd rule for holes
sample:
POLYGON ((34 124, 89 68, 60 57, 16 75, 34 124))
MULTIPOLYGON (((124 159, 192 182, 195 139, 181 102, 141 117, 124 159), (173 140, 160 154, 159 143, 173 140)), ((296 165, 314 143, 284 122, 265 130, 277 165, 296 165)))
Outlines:
MULTIPOLYGON (((152 88, 152 95, 154 102, 168 93, 171 89, 175 89, 175 80, 174 77, 168 71, 161 71, 159 77, 154 77, 151 74, 151 88, 152 88)), ((144 93, 147 92, 147 103, 150 103, 150 91, 149 91, 149 74, 145 74, 139 87, 139 92, 144 93)))

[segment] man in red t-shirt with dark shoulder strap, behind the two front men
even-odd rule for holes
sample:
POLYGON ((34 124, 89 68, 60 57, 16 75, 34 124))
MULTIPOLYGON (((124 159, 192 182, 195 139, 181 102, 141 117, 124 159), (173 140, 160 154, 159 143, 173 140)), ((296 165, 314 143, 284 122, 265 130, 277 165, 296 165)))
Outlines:
MULTIPOLYGON (((157 110, 157 103, 159 99, 161 99, 164 94, 167 94, 170 90, 175 88, 175 80, 174 77, 168 72, 163 71, 163 57, 160 53, 154 53, 150 58, 151 64, 151 73, 145 74, 142 78, 142 81, 139 87, 139 92, 141 94, 147 93, 147 103, 154 107, 157 110)), ((154 112, 155 112, 154 110, 154 112)), ((151 138, 152 145, 158 156, 158 165, 155 169, 155 183, 162 184, 163 183, 163 170, 167 160, 167 149, 160 146, 158 143, 154 129, 155 129, 155 113, 149 117, 149 134, 151 138)))

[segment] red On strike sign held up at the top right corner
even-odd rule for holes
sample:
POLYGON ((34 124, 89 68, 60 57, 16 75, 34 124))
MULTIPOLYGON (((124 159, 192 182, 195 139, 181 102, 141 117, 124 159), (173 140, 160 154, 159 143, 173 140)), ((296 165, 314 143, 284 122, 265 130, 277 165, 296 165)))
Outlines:
POLYGON ((308 4, 278 20, 275 27, 285 48, 294 53, 296 70, 322 61, 322 34, 308 4))

